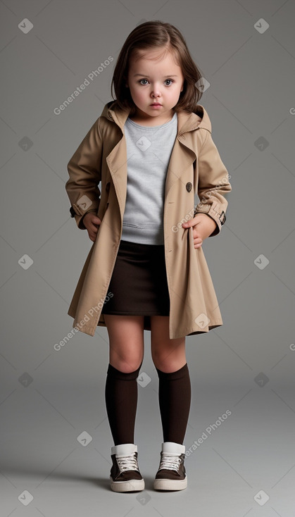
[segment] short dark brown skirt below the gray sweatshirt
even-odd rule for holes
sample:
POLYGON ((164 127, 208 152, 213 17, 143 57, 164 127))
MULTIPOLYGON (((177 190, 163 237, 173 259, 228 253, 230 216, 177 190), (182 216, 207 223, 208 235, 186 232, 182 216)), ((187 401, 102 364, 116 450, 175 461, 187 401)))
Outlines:
POLYGON ((164 245, 121 240, 101 313, 169 316, 169 311, 164 245))

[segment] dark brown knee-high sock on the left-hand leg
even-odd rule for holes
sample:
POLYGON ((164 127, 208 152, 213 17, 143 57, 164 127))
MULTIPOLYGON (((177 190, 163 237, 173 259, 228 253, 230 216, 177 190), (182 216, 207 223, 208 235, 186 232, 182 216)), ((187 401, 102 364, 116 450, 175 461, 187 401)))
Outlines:
POLYGON ((115 445, 134 443, 137 377, 141 366, 134 372, 124 373, 108 364, 105 390, 106 412, 115 445))

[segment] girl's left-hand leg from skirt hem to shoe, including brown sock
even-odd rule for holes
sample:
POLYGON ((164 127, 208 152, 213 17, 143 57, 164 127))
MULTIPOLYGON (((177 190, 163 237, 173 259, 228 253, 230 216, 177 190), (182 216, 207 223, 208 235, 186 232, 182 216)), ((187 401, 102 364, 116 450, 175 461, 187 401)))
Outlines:
POLYGON ((137 377, 144 358, 144 316, 105 314, 110 354, 106 411, 115 445, 134 443, 137 377))

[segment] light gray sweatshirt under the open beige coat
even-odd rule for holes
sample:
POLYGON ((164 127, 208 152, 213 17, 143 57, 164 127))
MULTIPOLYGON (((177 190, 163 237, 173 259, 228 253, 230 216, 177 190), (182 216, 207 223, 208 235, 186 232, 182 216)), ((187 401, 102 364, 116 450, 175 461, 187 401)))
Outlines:
POLYGON ((142 244, 164 244, 165 180, 177 135, 177 113, 153 127, 128 117, 124 132, 127 147, 127 196, 121 239, 142 244))

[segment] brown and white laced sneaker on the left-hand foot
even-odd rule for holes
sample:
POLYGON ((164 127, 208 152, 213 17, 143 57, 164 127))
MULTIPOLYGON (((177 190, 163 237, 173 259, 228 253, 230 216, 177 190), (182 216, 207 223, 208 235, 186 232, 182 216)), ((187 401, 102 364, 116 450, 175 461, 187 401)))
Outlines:
POLYGON ((144 490, 144 479, 137 463, 137 445, 119 444, 111 449, 111 490, 114 492, 134 492, 144 490))

